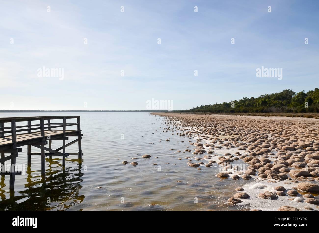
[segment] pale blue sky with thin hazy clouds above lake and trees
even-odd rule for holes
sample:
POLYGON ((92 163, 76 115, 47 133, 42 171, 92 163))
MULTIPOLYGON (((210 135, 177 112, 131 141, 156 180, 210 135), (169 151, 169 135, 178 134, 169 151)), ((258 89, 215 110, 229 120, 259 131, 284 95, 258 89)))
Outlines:
POLYGON ((190 109, 319 87, 318 1, 0 3, 0 109, 190 109), (257 78, 262 66, 283 79, 257 78))

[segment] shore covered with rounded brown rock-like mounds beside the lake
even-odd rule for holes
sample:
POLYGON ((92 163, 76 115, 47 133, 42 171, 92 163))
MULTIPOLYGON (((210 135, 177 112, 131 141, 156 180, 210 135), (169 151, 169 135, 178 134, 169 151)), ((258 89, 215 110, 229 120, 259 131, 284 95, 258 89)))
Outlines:
MULTIPOLYGON (((229 205, 319 210, 319 120, 300 117, 152 113, 196 138, 189 169, 219 164, 216 179, 245 179, 229 205), (244 166, 242 166, 244 165, 244 166)), ((168 128, 170 130, 170 128, 168 128)))

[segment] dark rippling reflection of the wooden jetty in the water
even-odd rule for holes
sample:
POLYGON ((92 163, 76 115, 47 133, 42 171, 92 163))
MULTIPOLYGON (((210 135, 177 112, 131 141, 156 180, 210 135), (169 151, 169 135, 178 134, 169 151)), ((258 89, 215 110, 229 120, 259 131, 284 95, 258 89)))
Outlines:
POLYGON ((2 176, 0 210, 67 210, 84 200, 85 196, 79 195, 83 173, 78 159, 67 159, 64 169, 62 159, 47 158, 46 164, 45 177, 41 176, 41 170, 33 171, 31 166, 27 167, 26 189, 19 191, 17 196, 14 191, 10 192, 9 198, 5 195, 4 179, 9 176, 2 176))

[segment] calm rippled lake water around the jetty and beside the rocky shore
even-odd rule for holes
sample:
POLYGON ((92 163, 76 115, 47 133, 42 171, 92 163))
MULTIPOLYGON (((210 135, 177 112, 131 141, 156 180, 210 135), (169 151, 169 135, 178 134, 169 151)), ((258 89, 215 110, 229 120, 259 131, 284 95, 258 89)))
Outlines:
MULTIPOLYGON (((40 156, 32 156, 26 174, 16 176, 14 195, 9 193, 9 176, 1 179, 0 210, 246 209, 230 206, 226 201, 233 196, 235 187, 248 181, 216 177, 219 169, 216 163, 210 168, 201 166, 200 171, 187 166, 188 159, 184 158, 193 154, 183 152, 193 150, 189 141, 196 140, 176 135, 181 131, 166 132, 167 125, 161 116, 149 113, 0 113, 0 117, 18 116, 81 116, 84 156, 82 164, 78 163, 77 156, 69 156, 64 170, 62 159, 47 157, 44 179, 41 178, 40 156), (166 141, 168 138, 170 141, 166 141), (143 154, 152 157, 142 158, 143 154), (134 157, 139 159, 132 159, 134 157), (123 160, 129 163, 123 165, 123 160), (133 161, 138 165, 131 165, 133 161)), ((66 143, 71 140, 70 137, 66 143)), ((53 149, 60 146, 62 141, 52 142, 53 149)), ((67 147, 66 152, 78 152, 77 147, 75 143, 67 147)), ((22 149, 16 163, 26 165, 27 147, 22 149)), ((35 147, 31 149, 40 152, 35 147)))

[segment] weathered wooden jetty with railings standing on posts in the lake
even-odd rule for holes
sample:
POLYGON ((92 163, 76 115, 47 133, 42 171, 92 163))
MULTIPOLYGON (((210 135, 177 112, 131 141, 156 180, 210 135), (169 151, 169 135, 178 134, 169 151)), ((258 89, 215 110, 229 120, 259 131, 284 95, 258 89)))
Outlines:
POLYGON ((28 166, 31 166, 31 156, 41 156, 41 175, 45 175, 45 157, 62 156, 62 166, 65 165, 65 158, 70 155, 77 155, 81 163, 81 134, 80 116, 36 116, 36 117, 4 117, 0 118, 0 154, 1 168, 4 168, 4 162, 11 160, 10 171, 1 171, 1 175, 10 175, 10 190, 14 190, 14 180, 16 175, 21 172, 15 170, 16 158, 18 153, 22 152, 21 146, 27 145, 28 166), (77 119, 77 123, 66 123, 66 119, 77 119), (51 120, 63 120, 63 123, 51 123, 51 120), (47 122, 46 124, 44 122, 47 122), (16 126, 16 122, 26 122, 25 125, 16 126), (36 122, 35 124, 33 122, 36 122), (11 123, 5 127, 5 123, 11 123), (39 124, 37 124, 39 123, 39 124), (76 130, 66 130, 68 126, 77 126, 76 130), (60 128, 57 130, 56 128, 60 128), (61 130, 61 128, 63 128, 61 130), (68 144, 65 141, 69 137, 77 137, 68 144), (62 146, 57 149, 51 148, 52 140, 61 140, 62 146), (65 148, 78 142, 78 153, 66 153, 65 148), (48 147, 45 147, 45 145, 48 147), (31 146, 40 148, 41 152, 32 153, 31 146), (60 152, 62 150, 62 152, 60 152), (47 152, 45 152, 47 151, 47 152), (10 155, 5 156, 6 153, 10 155))

